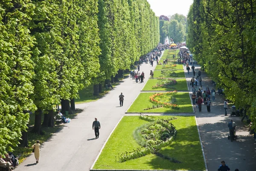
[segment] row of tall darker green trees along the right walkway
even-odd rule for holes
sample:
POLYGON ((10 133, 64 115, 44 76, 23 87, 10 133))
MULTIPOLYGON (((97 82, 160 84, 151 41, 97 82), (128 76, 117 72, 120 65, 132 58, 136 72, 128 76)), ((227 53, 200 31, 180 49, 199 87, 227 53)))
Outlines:
MULTIPOLYGON (((187 46, 224 87, 228 99, 256 116, 256 3, 194 0, 188 14, 187 46)), ((256 122, 253 122, 256 126, 256 122)))

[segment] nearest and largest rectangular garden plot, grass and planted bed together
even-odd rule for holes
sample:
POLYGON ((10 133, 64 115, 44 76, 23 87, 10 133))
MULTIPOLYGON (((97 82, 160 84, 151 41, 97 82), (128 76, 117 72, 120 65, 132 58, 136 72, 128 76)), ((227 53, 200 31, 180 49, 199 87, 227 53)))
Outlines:
POLYGON ((195 117, 124 116, 93 169, 205 170, 195 117))

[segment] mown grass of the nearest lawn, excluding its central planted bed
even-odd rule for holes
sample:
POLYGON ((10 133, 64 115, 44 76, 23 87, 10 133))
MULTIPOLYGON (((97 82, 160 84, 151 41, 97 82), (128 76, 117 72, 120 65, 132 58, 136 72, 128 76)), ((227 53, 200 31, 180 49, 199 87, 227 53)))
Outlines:
MULTIPOLYGON (((157 116, 168 119, 172 116, 157 116)), ((198 130, 194 116, 177 116, 171 121, 177 129, 177 135, 170 146, 162 148, 160 154, 174 158, 178 162, 149 154, 126 162, 116 162, 118 154, 140 148, 133 137, 133 132, 141 125, 149 123, 138 116, 124 116, 113 131, 102 150, 93 169, 137 169, 137 170, 205 170, 198 130), (124 136, 125 135, 125 136, 124 136)))

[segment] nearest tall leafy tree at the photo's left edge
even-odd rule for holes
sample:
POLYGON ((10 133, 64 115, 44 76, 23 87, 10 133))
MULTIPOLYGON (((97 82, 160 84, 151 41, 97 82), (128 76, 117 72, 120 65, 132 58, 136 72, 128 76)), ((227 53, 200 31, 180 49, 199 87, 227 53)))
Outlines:
POLYGON ((26 131, 29 110, 35 110, 29 95, 34 64, 31 48, 35 39, 29 33, 30 0, 0 1, 0 153, 13 151, 21 132, 26 131))

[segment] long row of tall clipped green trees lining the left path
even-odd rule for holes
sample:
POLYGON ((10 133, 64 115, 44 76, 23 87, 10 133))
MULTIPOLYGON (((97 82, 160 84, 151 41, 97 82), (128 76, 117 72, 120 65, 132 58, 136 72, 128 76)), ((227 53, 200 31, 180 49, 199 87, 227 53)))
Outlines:
POLYGON ((28 111, 42 133, 55 104, 70 111, 79 90, 99 88, 158 43, 146 0, 0 1, 0 153, 26 139, 28 111))

